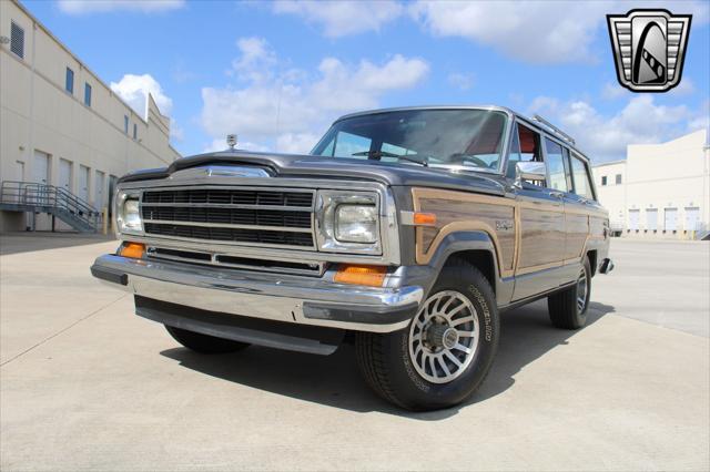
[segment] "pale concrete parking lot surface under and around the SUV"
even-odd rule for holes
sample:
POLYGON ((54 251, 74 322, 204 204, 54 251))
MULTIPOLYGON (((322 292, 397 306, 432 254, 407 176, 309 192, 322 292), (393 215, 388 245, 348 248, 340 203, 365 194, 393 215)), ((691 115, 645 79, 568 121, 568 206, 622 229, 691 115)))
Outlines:
POLYGON ((710 469, 710 245, 615 239, 589 325, 503 317, 466 404, 408 413, 331 357, 200 356, 89 266, 114 242, 3 235, 0 469, 710 469))

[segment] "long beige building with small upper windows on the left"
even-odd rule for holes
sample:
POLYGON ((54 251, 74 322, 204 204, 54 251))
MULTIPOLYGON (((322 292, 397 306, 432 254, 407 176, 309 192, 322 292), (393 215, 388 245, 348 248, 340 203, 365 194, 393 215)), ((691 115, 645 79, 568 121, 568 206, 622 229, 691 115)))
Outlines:
MULTIPOLYGON (((8 204, 20 194, 30 192, 37 201, 43 192, 40 199, 59 195, 62 203, 75 195, 102 209, 119 176, 180 157, 170 145, 170 119, 151 96, 145 114, 135 113, 14 0, 0 1, 0 230, 51 227, 48 214, 29 217, 37 214, 28 206, 8 204)), ((91 213, 85 208, 65 213, 91 213)), ((71 227, 55 216, 58 228, 71 227)))

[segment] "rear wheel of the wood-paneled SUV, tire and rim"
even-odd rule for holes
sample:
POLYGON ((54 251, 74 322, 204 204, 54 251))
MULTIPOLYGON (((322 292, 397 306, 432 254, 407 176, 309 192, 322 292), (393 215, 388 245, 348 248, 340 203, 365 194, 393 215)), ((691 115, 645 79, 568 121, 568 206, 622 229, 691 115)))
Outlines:
POLYGON ((589 308, 589 297, 591 296, 591 266, 589 258, 585 257, 585 263, 579 273, 577 284, 562 291, 547 297, 547 310, 550 314, 550 321, 556 328, 579 329, 587 324, 587 309, 589 308), (581 294, 580 279, 585 279, 586 290, 581 294), (584 306, 578 302, 578 298, 584 298, 584 306))

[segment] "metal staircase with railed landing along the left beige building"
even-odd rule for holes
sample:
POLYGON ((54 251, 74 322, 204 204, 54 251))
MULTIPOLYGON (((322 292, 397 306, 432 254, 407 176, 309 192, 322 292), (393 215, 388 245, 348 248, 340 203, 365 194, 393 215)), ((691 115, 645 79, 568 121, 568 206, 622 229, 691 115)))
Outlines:
POLYGON ((0 209, 47 213, 80 233, 97 233, 101 212, 62 187, 36 182, 3 181, 0 184, 0 209))

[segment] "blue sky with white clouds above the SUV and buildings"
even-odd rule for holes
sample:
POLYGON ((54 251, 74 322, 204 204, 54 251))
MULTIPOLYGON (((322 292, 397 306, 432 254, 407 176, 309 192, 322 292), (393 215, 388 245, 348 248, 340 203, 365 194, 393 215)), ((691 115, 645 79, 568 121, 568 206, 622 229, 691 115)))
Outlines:
POLYGON ((307 152, 337 116, 363 109, 490 103, 539 112, 596 162, 630 143, 708 126, 706 1, 232 2, 24 1, 129 103, 151 91, 183 155, 223 148, 307 152), (681 84, 627 92, 607 13, 692 13, 681 84))

